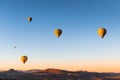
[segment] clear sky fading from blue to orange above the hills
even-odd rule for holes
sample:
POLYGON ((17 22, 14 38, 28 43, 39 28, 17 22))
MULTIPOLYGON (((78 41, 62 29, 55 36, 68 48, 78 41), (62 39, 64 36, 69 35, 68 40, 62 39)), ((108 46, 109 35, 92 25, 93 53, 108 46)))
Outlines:
POLYGON ((120 72, 119 34, 120 0, 0 0, 0 70, 120 72))

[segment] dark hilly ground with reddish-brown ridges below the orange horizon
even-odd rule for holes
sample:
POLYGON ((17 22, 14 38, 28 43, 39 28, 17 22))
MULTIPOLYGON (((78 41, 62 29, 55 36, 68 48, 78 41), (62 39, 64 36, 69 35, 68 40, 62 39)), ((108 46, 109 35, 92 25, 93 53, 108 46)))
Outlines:
POLYGON ((0 72, 0 80, 120 80, 120 73, 66 71, 59 69, 0 72))

